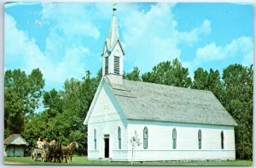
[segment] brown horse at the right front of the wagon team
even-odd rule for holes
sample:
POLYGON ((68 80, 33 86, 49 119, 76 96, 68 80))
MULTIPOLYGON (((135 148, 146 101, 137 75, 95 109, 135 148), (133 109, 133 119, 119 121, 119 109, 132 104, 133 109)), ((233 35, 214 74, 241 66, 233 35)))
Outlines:
POLYGON ((62 160, 63 159, 66 160, 66 163, 72 163, 72 156, 73 156, 74 148, 79 148, 79 144, 76 141, 69 143, 69 145, 67 145, 67 147, 65 147, 65 146, 61 147, 61 152, 62 152, 61 157, 62 157, 62 160))

